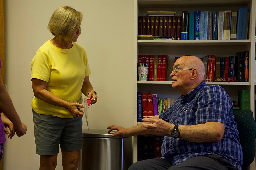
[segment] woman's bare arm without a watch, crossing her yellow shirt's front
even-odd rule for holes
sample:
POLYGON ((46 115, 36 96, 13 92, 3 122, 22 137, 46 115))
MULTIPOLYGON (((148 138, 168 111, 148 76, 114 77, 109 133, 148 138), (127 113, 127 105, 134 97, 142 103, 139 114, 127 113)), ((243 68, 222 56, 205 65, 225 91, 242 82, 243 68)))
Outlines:
POLYGON ((83 105, 79 103, 69 103, 55 96, 54 94, 46 90, 46 86, 47 86, 46 81, 36 79, 36 78, 33 78, 31 81, 32 81, 32 88, 33 88, 35 97, 51 105, 59 106, 67 109, 70 112, 70 114, 74 117, 77 117, 78 115, 80 117, 83 116, 84 114, 83 111, 82 110, 78 111, 77 109, 77 107, 84 108, 83 105))

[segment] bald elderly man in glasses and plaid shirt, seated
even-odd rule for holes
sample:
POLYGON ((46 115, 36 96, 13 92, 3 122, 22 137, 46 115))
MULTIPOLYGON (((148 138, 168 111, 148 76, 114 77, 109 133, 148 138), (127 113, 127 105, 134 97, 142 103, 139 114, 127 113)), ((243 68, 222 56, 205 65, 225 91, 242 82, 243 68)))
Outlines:
POLYGON ((172 87, 181 96, 164 113, 131 128, 112 125, 113 136, 164 136, 161 158, 136 162, 129 170, 241 169, 243 158, 233 104, 218 85, 206 85, 200 58, 183 56, 173 65, 172 87))

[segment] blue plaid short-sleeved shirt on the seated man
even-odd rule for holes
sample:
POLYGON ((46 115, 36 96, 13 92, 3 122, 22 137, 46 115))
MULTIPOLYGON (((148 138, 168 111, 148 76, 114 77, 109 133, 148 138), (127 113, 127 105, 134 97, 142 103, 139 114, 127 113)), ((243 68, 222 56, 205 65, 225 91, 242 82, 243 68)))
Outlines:
POLYGON ((161 148, 162 158, 169 158, 173 165, 197 155, 218 154, 241 169, 243 156, 237 125, 233 120, 233 104, 222 87, 206 85, 203 81, 188 94, 181 95, 159 117, 178 125, 205 122, 220 122, 225 125, 224 136, 220 142, 196 143, 165 136, 161 148))

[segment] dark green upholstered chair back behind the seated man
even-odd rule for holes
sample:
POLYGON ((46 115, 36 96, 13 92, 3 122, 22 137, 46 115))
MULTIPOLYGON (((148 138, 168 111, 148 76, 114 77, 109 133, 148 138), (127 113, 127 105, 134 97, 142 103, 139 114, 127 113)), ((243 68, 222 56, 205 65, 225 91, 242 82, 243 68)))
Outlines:
POLYGON ((255 157, 256 124, 253 119, 253 112, 251 110, 234 110, 233 115, 243 150, 242 170, 248 170, 255 157))

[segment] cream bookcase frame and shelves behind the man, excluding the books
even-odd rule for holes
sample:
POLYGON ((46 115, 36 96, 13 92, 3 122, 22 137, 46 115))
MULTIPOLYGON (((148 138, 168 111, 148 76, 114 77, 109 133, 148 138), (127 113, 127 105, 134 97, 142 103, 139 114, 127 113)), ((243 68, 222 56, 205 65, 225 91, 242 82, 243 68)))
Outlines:
MULTIPOLYGON (((206 55, 229 56, 237 51, 249 51, 249 82, 206 82, 208 85, 220 85, 230 95, 233 101, 237 100, 238 90, 250 90, 251 110, 254 112, 254 57, 256 53, 255 40, 256 0, 134 0, 134 71, 137 72, 138 54, 166 54, 169 56, 167 75, 174 64, 174 58, 183 55, 195 55, 202 58, 206 55), (176 11, 175 16, 181 16, 182 11, 238 11, 240 7, 247 7, 250 11, 248 39, 245 40, 138 40, 138 16, 146 16, 147 11, 176 11)), ((164 96, 163 98, 176 98, 180 96, 172 89, 172 78, 167 81, 137 81, 134 100, 137 101, 137 91, 146 90, 164 96)), ((161 97, 160 97, 161 98, 161 97)), ((134 110, 134 125, 137 122, 137 103, 134 110)), ((137 162, 137 137, 134 136, 133 160, 137 162)), ((251 169, 255 170, 255 161, 251 169), (253 165, 254 164, 254 165, 253 165)))

